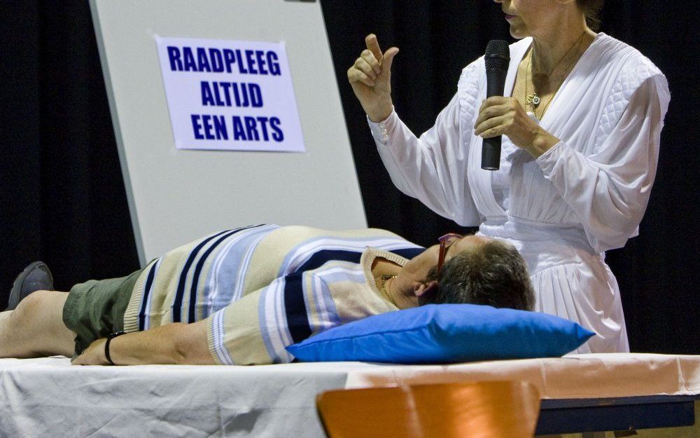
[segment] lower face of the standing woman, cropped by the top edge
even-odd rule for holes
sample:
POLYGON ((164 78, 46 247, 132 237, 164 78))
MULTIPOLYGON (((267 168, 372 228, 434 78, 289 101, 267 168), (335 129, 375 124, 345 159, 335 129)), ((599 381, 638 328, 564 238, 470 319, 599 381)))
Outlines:
POLYGON ((556 0, 493 0, 501 4, 505 20, 510 24, 510 35, 521 39, 540 36, 556 27, 556 0))

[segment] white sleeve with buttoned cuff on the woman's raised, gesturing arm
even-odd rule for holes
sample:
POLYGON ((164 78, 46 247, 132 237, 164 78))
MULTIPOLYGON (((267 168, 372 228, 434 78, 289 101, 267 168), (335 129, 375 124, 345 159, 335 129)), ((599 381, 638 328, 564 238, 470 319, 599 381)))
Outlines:
POLYGON ((459 137, 460 104, 454 95, 435 125, 417 138, 392 111, 385 121, 367 118, 379 156, 395 186, 437 214, 463 226, 481 223, 467 182, 468 151, 459 137))

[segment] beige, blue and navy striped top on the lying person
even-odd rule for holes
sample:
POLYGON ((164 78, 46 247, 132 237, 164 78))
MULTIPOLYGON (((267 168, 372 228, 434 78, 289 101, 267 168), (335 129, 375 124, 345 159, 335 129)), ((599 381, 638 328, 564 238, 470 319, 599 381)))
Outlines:
POLYGON ((151 261, 124 315, 126 331, 207 320, 219 364, 293 360, 285 347, 398 310, 377 290, 375 257, 403 265, 423 251, 379 229, 259 225, 195 240, 151 261))

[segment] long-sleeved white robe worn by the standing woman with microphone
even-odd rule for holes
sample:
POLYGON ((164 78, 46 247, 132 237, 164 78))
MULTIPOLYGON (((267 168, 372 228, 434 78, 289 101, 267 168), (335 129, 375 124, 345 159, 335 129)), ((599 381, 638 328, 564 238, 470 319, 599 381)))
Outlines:
MULTIPOLYGON (((507 95, 531 42, 510 46, 507 95)), ((629 351, 605 251, 638 234, 670 100, 665 76, 636 49, 598 34, 540 121, 561 142, 535 159, 504 136, 496 172, 480 168, 482 139, 473 129, 485 98, 482 57, 465 67, 456 95, 420 138, 395 113, 370 122, 393 183, 438 214, 517 247, 535 310, 596 332, 578 353, 629 351)))

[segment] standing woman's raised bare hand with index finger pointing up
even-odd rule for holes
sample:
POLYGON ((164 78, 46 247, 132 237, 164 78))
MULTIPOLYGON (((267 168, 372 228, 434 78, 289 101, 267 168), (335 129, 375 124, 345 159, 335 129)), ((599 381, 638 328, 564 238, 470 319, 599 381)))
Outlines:
POLYGON ((365 113, 373 122, 383 121, 391 114, 391 62, 398 53, 392 47, 381 53, 377 36, 365 38, 367 48, 348 69, 348 80, 365 113))

